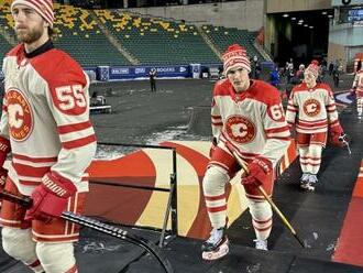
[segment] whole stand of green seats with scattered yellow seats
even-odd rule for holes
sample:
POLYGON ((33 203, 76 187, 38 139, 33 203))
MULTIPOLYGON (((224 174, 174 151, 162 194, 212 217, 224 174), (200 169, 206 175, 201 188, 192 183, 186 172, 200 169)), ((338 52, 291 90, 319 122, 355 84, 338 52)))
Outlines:
MULTIPOLYGON (((11 0, 0 0, 0 24, 3 32, 14 36, 10 4, 11 0)), ((263 59, 253 46, 256 33, 245 30, 213 25, 198 30, 194 24, 143 18, 121 10, 91 11, 59 3, 54 3, 54 8, 58 14, 54 28, 56 47, 86 67, 215 64, 220 63, 218 54, 232 43, 243 44, 250 56, 263 59)), ((0 41, 3 56, 12 45, 1 34, 0 41)))

